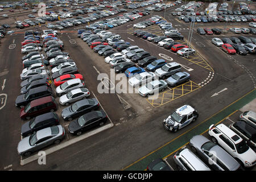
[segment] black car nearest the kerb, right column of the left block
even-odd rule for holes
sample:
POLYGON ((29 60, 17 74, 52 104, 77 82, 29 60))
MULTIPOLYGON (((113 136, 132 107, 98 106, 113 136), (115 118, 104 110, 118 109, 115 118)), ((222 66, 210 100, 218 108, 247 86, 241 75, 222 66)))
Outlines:
POLYGON ((104 110, 91 111, 69 123, 68 131, 73 135, 81 135, 83 131, 104 125, 107 119, 108 117, 104 110))

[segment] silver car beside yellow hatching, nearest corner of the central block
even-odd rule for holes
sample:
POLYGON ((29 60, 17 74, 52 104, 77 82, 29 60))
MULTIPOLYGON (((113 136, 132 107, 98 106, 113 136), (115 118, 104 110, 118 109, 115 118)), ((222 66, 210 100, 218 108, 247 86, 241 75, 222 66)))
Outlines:
POLYGON ((142 97, 148 97, 149 95, 153 95, 155 93, 163 92, 167 88, 167 82, 164 80, 154 80, 149 82, 148 84, 139 88, 139 94, 142 97))

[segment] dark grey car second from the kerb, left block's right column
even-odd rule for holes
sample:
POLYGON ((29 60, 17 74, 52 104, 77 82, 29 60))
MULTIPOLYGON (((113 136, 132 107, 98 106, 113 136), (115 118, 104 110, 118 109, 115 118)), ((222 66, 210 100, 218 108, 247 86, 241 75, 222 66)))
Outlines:
POLYGON ((63 109, 61 111, 61 116, 64 121, 71 121, 74 118, 80 117, 82 114, 98 109, 99 106, 100 104, 96 98, 83 99, 63 109))

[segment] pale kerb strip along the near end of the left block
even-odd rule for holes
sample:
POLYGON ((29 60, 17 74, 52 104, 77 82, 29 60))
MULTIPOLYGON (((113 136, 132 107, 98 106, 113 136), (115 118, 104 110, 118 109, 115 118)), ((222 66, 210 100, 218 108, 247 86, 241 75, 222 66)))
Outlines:
MULTIPOLYGON (((71 144, 73 143, 76 143, 76 142, 79 142, 81 140, 84 140, 85 138, 88 138, 88 137, 91 137, 92 135, 95 135, 97 133, 100 133, 101 131, 104 131, 106 129, 109 129, 110 127, 113 127, 114 124, 113 123, 109 123, 108 125, 105 125, 105 126, 102 126, 96 130, 93 130, 93 131, 90 131, 89 133, 85 133, 85 134, 82 134, 81 136, 79 137, 76 137, 74 139, 71 139, 71 140, 68 140, 67 142, 63 142, 63 143, 60 143, 58 144, 57 146, 55 147, 51 147, 47 150, 45 150, 46 152, 46 155, 49 155, 49 154, 52 154, 53 152, 56 152, 62 148, 65 148, 67 146, 70 146, 71 144)), ((39 155, 35 154, 35 155, 32 155, 30 156, 29 158, 26 158, 26 159, 23 159, 23 160, 20 160, 20 165, 21 166, 24 166, 25 164, 28 164, 28 163, 31 163, 33 162, 34 160, 37 160, 39 158, 39 155)))

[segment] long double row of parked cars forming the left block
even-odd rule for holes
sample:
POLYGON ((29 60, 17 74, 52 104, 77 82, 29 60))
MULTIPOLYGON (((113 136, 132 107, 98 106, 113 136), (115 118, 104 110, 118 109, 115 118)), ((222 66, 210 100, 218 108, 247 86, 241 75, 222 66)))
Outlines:
POLYGON ((61 96, 61 105, 68 106, 75 102, 61 111, 64 121, 79 117, 69 123, 69 133, 81 135, 83 131, 104 125, 107 121, 105 112, 97 110, 100 104, 96 98, 87 98, 90 92, 84 87, 84 78, 69 53, 62 51, 64 45, 56 32, 44 30, 43 35, 39 36, 39 32, 27 31, 24 39, 22 44, 26 51, 23 48, 23 53, 27 55, 22 59, 30 65, 26 65, 20 75, 22 88, 15 106, 21 109, 20 118, 30 121, 22 125, 21 134, 24 138, 18 144, 18 153, 30 156, 32 152, 52 143, 58 144, 64 138, 65 129, 60 125, 60 117, 54 113, 58 107, 55 93, 61 96), (34 60, 38 63, 30 63, 34 60), (48 65, 51 71, 47 69, 48 65), (52 80, 56 87, 55 93, 52 92, 52 80))

